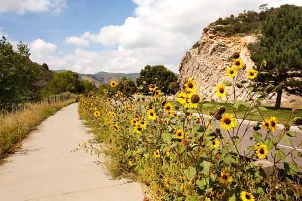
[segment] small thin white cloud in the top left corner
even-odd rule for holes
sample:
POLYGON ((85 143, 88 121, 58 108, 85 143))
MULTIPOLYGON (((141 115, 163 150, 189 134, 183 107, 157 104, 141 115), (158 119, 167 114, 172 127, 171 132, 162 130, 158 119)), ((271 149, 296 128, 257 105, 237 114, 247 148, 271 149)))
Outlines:
POLYGON ((65 7, 65 0, 2 0, 0 13, 15 12, 23 15, 25 12, 55 12, 65 7))

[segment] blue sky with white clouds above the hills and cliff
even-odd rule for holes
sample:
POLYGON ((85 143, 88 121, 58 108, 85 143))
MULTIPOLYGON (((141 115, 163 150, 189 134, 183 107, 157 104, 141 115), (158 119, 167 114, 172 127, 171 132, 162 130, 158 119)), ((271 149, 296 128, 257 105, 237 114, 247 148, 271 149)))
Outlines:
POLYGON ((219 17, 300 0, 1 0, 0 35, 52 70, 136 73, 178 65, 219 17))

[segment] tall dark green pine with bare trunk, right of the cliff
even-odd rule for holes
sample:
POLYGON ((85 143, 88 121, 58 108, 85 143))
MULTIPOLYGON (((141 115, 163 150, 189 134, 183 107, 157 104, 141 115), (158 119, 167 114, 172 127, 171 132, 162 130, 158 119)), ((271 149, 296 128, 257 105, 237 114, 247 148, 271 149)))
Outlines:
POLYGON ((267 61, 267 73, 259 75, 259 85, 277 87, 282 83, 275 104, 280 108, 283 90, 302 93, 302 7, 282 5, 272 10, 261 32, 259 42, 251 46, 251 58, 258 70, 262 61, 267 61))

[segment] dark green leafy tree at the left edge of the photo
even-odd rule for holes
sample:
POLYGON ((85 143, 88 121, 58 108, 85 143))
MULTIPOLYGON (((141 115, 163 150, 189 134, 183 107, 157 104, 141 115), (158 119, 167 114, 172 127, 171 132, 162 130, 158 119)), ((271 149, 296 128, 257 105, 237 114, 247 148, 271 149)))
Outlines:
POLYGON ((38 69, 31 63, 27 63, 26 59, 28 58, 25 54, 15 52, 13 46, 6 41, 5 37, 2 37, 0 40, 0 109, 10 109, 12 103, 20 103, 30 96, 30 89, 33 88, 38 69))

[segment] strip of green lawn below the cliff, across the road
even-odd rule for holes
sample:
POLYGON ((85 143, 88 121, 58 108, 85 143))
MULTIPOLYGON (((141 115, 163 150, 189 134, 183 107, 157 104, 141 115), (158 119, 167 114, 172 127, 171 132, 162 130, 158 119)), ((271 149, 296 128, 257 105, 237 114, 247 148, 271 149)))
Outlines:
MULTIPOLYGON (((176 104, 176 101, 169 101, 169 102, 171 102, 173 105, 176 104)), ((209 114, 210 111, 215 112, 215 110, 220 105, 225 106, 227 113, 234 113, 234 109, 231 106, 231 104, 229 104, 229 103, 212 102, 211 104, 214 104, 214 106, 212 106, 212 107, 203 107, 203 114, 209 114)), ((288 108, 281 108, 281 109, 274 109, 273 107, 265 107, 265 108, 267 109, 266 111, 260 111, 261 114, 263 115, 263 117, 264 118, 269 118, 270 116, 276 116, 280 124, 286 124, 288 118, 292 114, 292 109, 288 109, 288 108)), ((196 112, 196 110, 189 110, 189 111, 190 112, 196 112)), ((239 109, 237 111, 237 117, 239 119, 242 118, 244 116, 245 111, 246 111, 246 107, 243 107, 243 106, 239 107, 239 109)), ((292 115, 291 118, 290 118, 289 123, 291 123, 291 120, 295 116, 302 116, 302 110, 298 110, 298 112, 295 115, 292 115)), ((248 120, 249 120, 249 118, 248 118, 248 120)), ((262 118, 261 118, 260 114, 256 112, 252 116, 251 120, 253 120, 253 121, 262 121, 262 118)))

